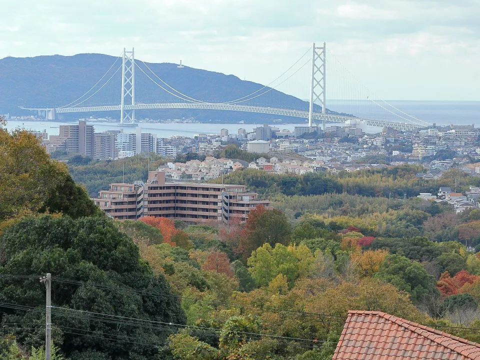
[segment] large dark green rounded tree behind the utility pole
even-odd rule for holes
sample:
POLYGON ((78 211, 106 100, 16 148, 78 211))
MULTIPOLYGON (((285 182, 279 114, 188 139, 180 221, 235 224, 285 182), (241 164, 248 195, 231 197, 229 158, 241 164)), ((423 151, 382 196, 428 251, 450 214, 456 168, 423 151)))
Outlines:
MULTIPOLYGON (((167 323, 185 321, 163 276, 153 275, 140 260, 133 241, 107 218, 25 217, 3 231, 0 248, 0 298, 4 302, 44 308, 44 288, 36 277, 19 280, 6 275, 53 274, 53 334, 66 357, 76 354, 79 358, 83 352, 95 350, 119 360, 146 360, 158 353, 157 349, 142 345, 142 341, 125 347, 108 338, 64 331, 71 327, 80 334, 111 333, 153 343, 163 343, 168 335, 167 330, 160 328, 97 321, 86 311, 167 323)), ((1 308, 0 321, 41 323, 44 318, 41 311, 1 308)), ((41 327, 18 329, 14 334, 27 347, 38 348, 44 339, 41 327)))

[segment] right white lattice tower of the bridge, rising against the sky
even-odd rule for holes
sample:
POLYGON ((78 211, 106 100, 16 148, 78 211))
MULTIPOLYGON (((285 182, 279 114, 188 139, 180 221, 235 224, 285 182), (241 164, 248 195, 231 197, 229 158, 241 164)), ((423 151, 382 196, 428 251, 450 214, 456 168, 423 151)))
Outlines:
MULTIPOLYGON (((313 42, 313 51, 311 55, 311 87, 310 87, 310 108, 308 111, 308 126, 311 127, 313 120, 313 105, 315 101, 321 103, 321 113, 325 113, 325 62, 326 46, 323 42, 322 47, 315 46, 313 42)), ((323 131, 325 131, 325 120, 323 120, 323 131)))

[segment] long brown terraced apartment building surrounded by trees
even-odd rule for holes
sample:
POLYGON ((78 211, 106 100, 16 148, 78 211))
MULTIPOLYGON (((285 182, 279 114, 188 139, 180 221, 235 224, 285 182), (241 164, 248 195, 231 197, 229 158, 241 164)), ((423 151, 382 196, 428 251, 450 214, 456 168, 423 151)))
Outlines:
POLYGON ((112 183, 93 200, 119 220, 162 216, 189 222, 245 221, 255 206, 270 207, 244 185, 165 182, 163 171, 149 171, 146 183, 112 183))

